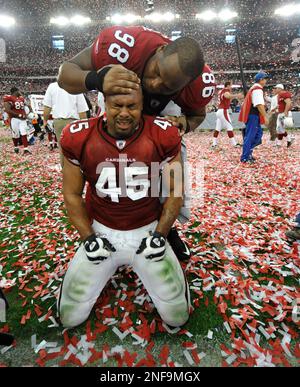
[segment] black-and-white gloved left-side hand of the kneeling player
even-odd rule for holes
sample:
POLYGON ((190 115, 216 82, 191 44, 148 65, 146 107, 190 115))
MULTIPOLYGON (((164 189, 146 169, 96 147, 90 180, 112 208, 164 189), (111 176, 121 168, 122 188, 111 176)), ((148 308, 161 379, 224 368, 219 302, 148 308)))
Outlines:
POLYGON ((88 260, 96 265, 107 259, 112 252, 116 251, 108 239, 98 234, 92 234, 86 238, 83 241, 83 247, 88 260))

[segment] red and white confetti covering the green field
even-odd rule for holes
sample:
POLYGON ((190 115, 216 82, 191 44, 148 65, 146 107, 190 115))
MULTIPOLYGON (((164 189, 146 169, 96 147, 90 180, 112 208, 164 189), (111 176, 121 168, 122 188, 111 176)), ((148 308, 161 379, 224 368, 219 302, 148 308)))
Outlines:
POLYGON ((197 366, 213 345, 224 366, 299 361, 299 246, 285 238, 300 211, 299 133, 289 149, 265 141, 249 166, 239 163, 240 149, 226 138, 213 151, 210 134, 188 135, 189 160, 204 163, 205 189, 203 206, 192 209, 190 223, 178 225, 193 251, 183 264, 191 322, 182 329, 164 324, 141 281, 123 267, 76 333, 56 320, 58 290, 79 246, 64 211, 58 153, 37 144, 33 156, 16 155, 0 133, 0 285, 19 316, 14 322, 8 316, 5 331, 38 327, 27 337, 37 365, 197 366), (196 343, 199 308, 223 320, 204 322, 205 348, 196 343), (49 332, 57 333, 54 340, 49 332), (157 340, 162 335, 164 344, 157 340))

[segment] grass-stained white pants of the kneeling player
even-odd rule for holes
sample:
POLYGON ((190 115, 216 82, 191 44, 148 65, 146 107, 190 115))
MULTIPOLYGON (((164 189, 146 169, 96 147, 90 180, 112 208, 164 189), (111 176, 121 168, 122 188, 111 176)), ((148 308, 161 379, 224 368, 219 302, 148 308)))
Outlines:
POLYGON ((118 231, 96 221, 93 229, 106 237, 116 252, 98 265, 90 262, 81 245, 72 259, 60 289, 58 311, 67 328, 83 323, 118 267, 132 266, 143 282, 163 321, 173 327, 189 318, 190 293, 182 268, 173 250, 166 244, 165 257, 158 262, 136 254, 143 238, 155 229, 157 222, 147 226, 118 231))

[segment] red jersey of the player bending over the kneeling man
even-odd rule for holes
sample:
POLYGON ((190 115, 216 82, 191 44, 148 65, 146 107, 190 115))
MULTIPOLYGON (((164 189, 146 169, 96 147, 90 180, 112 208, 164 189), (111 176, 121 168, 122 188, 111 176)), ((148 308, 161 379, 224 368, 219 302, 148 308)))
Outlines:
MULTIPOLYGON (((92 47, 92 63, 95 70, 109 64, 121 64, 134 71, 140 78, 148 60, 158 47, 171 40, 159 32, 145 27, 114 26, 102 30, 92 47)), ((184 113, 206 106, 215 92, 215 77, 205 65, 202 75, 173 96, 144 99, 144 112, 159 114, 170 100, 179 105, 184 113)))

